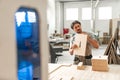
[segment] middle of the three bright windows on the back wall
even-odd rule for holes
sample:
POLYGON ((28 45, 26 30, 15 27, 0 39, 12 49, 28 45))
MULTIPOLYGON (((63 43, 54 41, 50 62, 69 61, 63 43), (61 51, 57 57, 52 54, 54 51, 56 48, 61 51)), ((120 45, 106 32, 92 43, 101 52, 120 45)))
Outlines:
POLYGON ((82 20, 91 20, 91 8, 82 8, 82 20))

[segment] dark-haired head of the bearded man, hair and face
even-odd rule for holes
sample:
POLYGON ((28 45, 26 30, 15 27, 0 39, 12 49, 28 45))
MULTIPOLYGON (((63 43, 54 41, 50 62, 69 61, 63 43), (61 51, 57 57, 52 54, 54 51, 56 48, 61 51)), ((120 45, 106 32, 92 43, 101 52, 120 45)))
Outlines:
POLYGON ((81 23, 77 20, 72 22, 71 28, 76 32, 76 33, 82 33, 82 28, 81 28, 81 23))

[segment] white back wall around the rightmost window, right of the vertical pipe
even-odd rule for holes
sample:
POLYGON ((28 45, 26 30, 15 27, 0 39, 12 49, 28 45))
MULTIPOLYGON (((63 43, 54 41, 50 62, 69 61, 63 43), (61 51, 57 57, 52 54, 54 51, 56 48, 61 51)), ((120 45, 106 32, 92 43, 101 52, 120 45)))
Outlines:
MULTIPOLYGON (((120 0, 113 0, 113 1, 100 1, 98 7, 102 6, 111 6, 112 7, 112 18, 120 18, 120 0)), ((97 8, 98 10, 98 8, 97 8)), ((98 11, 97 11, 98 12, 98 11)), ((98 13, 96 13, 97 15, 98 13)), ((95 27, 96 30, 100 30, 101 36, 103 35, 103 32, 108 32, 109 33, 109 21, 110 20, 98 20, 98 15, 96 17, 96 23, 95 27)))

